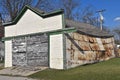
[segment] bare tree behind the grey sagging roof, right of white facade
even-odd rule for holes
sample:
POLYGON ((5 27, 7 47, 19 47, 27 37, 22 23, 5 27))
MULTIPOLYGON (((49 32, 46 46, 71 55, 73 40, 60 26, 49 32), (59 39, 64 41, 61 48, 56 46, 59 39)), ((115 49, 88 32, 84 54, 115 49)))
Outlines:
POLYGON ((65 17, 67 19, 89 23, 94 26, 99 26, 98 17, 94 16, 95 8, 92 5, 88 5, 82 8, 80 2, 77 2, 75 0, 61 0, 61 1, 62 8, 65 11, 65 17))

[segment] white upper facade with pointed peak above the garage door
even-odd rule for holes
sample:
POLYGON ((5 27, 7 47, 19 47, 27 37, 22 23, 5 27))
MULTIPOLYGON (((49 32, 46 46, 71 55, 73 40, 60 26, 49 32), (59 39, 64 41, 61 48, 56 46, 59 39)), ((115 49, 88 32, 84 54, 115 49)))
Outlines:
POLYGON ((16 25, 5 27, 5 37, 62 29, 62 14, 42 18, 27 10, 16 25))

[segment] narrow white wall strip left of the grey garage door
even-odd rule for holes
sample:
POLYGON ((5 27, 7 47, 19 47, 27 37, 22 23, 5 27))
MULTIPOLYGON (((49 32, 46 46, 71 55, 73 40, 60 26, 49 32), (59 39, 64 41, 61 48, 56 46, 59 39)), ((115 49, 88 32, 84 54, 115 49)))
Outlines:
POLYGON ((5 41, 5 67, 12 67, 12 41, 5 41))

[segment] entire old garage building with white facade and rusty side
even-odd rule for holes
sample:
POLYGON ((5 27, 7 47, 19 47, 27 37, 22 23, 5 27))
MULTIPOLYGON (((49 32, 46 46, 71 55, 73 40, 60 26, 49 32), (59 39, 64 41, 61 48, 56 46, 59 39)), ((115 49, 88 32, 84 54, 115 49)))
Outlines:
POLYGON ((114 57, 113 35, 66 20, 63 10, 44 13, 25 6, 4 26, 5 67, 68 69, 114 57))

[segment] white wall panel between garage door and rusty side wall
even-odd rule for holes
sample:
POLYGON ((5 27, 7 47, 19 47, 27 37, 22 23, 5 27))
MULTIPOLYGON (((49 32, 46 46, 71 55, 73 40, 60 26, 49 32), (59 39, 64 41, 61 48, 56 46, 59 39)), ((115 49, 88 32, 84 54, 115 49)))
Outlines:
POLYGON ((50 68, 63 69, 63 34, 50 36, 50 68))

